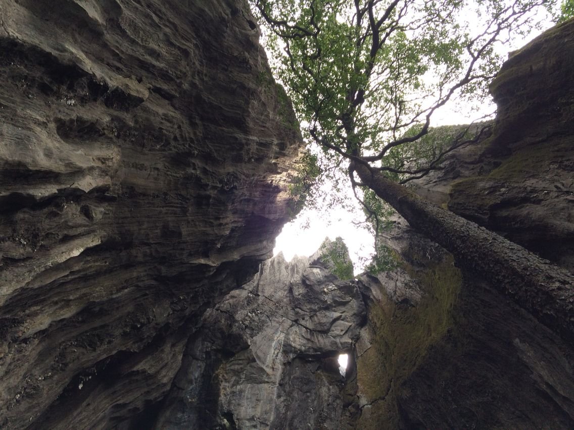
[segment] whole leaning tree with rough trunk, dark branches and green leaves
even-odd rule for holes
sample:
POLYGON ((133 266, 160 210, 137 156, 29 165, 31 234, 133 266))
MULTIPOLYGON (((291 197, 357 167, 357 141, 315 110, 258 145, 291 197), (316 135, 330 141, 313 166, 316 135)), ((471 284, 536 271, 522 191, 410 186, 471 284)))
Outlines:
POLYGON ((377 218, 371 190, 413 228, 482 273, 542 323, 574 339, 574 276, 403 184, 490 125, 462 130, 425 166, 417 144, 453 97, 483 100, 502 58, 495 44, 536 25, 544 0, 251 0, 269 31, 276 75, 305 138, 348 178, 377 218), (474 7, 474 19, 467 19, 474 7), (414 149, 413 149, 414 148, 414 149), (410 152, 409 152, 410 151, 410 152), (402 154, 402 155, 401 155, 402 154), (404 157, 414 154, 414 157, 404 157))

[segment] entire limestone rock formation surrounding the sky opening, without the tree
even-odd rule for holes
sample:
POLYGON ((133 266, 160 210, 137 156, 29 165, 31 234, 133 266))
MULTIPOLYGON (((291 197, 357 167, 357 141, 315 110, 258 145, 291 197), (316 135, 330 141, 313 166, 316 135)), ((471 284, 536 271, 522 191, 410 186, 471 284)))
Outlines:
MULTIPOLYGON (((0 427, 574 428, 573 346, 400 219, 387 272, 249 282, 301 140, 258 36, 239 0, 0 0, 0 427)), ((417 184, 571 270, 573 36, 417 184)))

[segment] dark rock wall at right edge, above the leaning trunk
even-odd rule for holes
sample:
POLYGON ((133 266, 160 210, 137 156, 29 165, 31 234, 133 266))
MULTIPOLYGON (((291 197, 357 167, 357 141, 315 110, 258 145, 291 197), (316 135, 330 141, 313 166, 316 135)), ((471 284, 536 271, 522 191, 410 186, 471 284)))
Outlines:
POLYGON ((490 171, 452 184, 448 207, 574 271, 574 21, 505 62, 481 159, 490 171))

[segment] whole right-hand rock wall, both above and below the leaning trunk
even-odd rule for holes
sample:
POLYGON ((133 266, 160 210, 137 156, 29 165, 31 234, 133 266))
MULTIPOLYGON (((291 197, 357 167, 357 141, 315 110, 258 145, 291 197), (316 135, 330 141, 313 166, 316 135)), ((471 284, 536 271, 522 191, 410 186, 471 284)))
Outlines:
MULTIPOLYGON (((492 83, 491 135, 416 185, 570 270, 573 36, 569 21, 515 53, 492 83)), ((573 428, 574 347, 403 220, 385 235, 391 269, 359 284, 356 428, 573 428)))

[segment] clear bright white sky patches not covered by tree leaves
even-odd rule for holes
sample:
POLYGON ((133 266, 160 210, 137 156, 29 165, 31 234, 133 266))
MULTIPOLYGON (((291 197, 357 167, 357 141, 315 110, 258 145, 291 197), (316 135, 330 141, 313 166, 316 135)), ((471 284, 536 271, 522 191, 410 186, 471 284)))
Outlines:
MULTIPOLYGON (((550 26, 552 24, 548 21, 544 29, 533 30, 528 36, 516 38, 511 43, 500 46, 499 49, 506 56, 507 53, 521 48, 550 26)), ((468 124, 477 117, 494 112, 495 108, 494 103, 491 102, 490 105, 485 105, 481 112, 471 112, 457 105, 455 101, 450 107, 444 107, 433 115, 431 126, 468 124)), ((351 200, 355 205, 351 211, 336 207, 303 209, 292 222, 284 226, 277 237, 274 255, 282 252, 286 261, 290 261, 294 255, 310 256, 319 249, 325 237, 334 240, 340 236, 349 248, 355 275, 362 272, 364 265, 368 264, 373 254, 374 238, 366 229, 355 225, 357 222, 364 221, 364 214, 359 203, 354 199, 351 200)))

